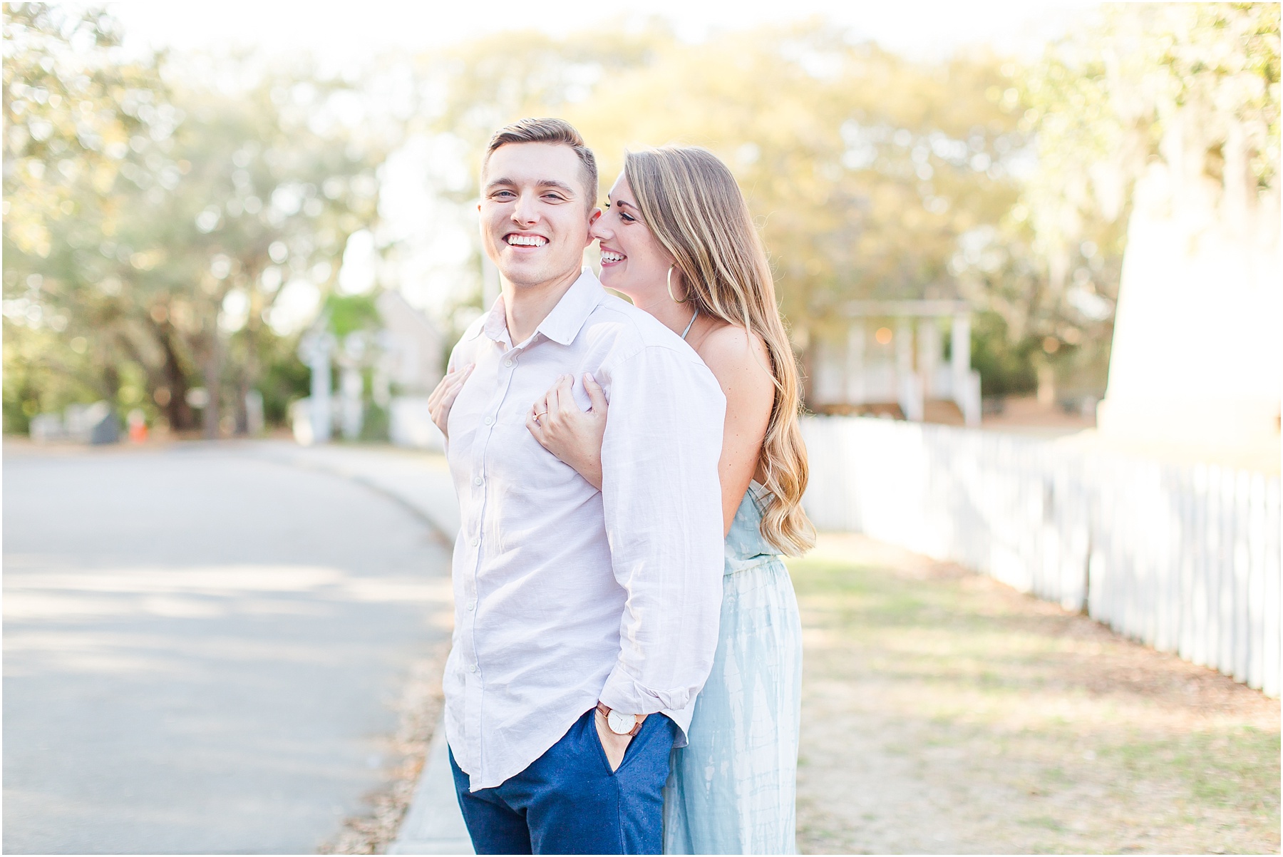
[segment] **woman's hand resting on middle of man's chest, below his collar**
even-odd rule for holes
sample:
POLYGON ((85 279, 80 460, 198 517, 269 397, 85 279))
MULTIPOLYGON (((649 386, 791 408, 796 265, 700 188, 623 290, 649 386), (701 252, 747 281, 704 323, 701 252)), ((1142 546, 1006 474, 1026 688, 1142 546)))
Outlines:
POLYGON ((575 380, 563 375, 526 414, 526 429, 539 444, 602 489, 602 437, 606 436, 606 394, 591 375, 584 390, 591 408, 580 411, 571 391, 575 380))

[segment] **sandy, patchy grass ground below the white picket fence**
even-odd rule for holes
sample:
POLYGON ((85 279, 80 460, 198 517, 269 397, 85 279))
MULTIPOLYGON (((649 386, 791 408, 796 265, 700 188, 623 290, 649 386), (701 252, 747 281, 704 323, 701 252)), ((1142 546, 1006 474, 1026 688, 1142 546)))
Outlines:
POLYGON ((1278 852, 1278 700, 862 536, 789 566, 803 852, 1278 852))

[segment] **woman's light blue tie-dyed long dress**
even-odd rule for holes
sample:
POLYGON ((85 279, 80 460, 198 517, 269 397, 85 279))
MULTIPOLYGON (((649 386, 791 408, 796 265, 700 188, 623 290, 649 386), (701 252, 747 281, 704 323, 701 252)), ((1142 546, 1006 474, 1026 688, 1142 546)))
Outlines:
POLYGON ((749 485, 726 535, 717 654, 663 790, 666 854, 797 853, 802 622, 758 530, 765 496, 749 485))

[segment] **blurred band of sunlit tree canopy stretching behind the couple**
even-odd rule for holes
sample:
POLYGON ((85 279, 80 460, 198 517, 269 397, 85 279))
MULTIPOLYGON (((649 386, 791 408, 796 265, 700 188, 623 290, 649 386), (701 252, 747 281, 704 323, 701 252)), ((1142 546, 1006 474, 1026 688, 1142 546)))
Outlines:
MULTIPOLYGON (((820 19, 689 44, 652 19, 606 40, 499 32, 344 78, 305 58, 126 55, 101 10, 8 4, 4 28, 8 431, 98 398, 194 429, 194 387, 214 394, 210 432, 244 429, 251 389, 284 416, 302 326, 326 305, 364 318, 335 299, 349 237, 389 260, 439 253, 427 227, 393 228, 389 194, 472 228, 485 141, 523 115, 574 122, 602 190, 630 146, 721 157, 799 357, 848 300, 967 300, 990 393, 1039 366, 1103 389, 1130 190, 1175 157, 1179 122, 1209 141, 1200 169, 1242 151, 1277 199, 1277 4, 1109 6, 1033 63, 908 59, 820 19), (435 178, 395 186, 412 154, 435 178)), ((443 281, 475 313, 468 253, 443 281)), ((422 271, 384 266, 376 287, 422 271)))

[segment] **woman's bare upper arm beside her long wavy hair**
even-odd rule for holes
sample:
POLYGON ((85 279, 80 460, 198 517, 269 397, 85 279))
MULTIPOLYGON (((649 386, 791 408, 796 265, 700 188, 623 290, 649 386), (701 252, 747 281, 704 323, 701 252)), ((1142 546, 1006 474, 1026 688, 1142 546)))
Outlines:
POLYGON ((722 452, 717 462, 725 535, 730 532, 744 491, 758 470, 762 440, 775 403, 775 381, 769 368, 766 344, 743 327, 717 327, 695 350, 726 395, 722 452))

